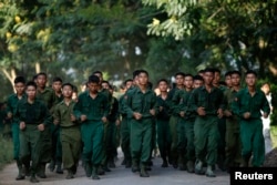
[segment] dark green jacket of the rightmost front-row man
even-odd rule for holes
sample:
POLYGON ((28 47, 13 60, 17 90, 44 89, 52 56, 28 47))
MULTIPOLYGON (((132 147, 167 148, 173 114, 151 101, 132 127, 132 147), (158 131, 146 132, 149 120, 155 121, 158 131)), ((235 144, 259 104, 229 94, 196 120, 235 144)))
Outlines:
POLYGON ((260 119, 263 110, 269 115, 270 107, 266 95, 263 91, 256 90, 254 96, 250 95, 248 89, 240 90, 235 97, 234 103, 232 104, 232 110, 236 115, 243 119, 244 113, 249 112, 250 119, 260 119))

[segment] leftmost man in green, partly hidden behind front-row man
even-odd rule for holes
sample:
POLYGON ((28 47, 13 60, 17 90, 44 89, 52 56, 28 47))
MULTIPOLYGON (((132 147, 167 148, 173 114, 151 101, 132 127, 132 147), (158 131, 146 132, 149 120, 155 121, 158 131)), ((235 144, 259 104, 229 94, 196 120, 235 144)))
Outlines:
MULTIPOLYGON (((14 114, 16 114, 18 102, 21 99, 25 97, 24 88, 25 88, 25 79, 23 76, 17 76, 14 79, 16 93, 10 95, 7 101, 7 116, 9 120, 12 120, 11 122, 12 122, 13 158, 17 161, 17 166, 19 169, 19 174, 16 178, 17 181, 24 179, 24 174, 22 172, 23 165, 19 157, 19 152, 20 152, 19 122, 16 120, 14 114)), ((27 168, 30 167, 29 164, 30 163, 27 164, 27 168)))

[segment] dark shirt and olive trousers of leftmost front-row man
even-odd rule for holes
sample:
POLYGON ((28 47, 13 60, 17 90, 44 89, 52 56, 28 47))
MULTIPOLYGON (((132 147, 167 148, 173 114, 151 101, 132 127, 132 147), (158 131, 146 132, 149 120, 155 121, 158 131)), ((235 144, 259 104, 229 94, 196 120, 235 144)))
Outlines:
POLYGON ((27 99, 23 99, 18 102, 14 116, 19 123, 25 123, 25 129, 20 131, 20 158, 27 166, 30 160, 32 161, 31 173, 34 175, 40 158, 43 156, 43 133, 47 131, 39 131, 38 125, 43 123, 44 127, 48 127, 51 123, 51 115, 43 102, 35 99, 30 104, 27 99))

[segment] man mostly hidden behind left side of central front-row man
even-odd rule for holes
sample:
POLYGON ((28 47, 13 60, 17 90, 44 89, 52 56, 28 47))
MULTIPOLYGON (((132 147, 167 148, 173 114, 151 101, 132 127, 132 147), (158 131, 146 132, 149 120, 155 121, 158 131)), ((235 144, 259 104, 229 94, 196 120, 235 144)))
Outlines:
POLYGON ((121 148, 124 154, 122 165, 126 168, 131 167, 132 157, 130 152, 130 122, 127 120, 126 111, 124 110, 124 96, 127 90, 132 86, 133 80, 129 79, 124 82, 124 94, 120 97, 120 113, 121 113, 121 148))

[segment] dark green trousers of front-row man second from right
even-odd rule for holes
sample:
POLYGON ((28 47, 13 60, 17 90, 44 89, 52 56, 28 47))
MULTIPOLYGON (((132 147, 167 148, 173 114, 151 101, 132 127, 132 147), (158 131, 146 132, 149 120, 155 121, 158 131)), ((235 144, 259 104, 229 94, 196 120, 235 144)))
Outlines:
POLYGON ((218 117, 216 115, 196 116, 194 123, 196 160, 215 165, 217 160, 218 117))

